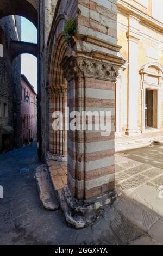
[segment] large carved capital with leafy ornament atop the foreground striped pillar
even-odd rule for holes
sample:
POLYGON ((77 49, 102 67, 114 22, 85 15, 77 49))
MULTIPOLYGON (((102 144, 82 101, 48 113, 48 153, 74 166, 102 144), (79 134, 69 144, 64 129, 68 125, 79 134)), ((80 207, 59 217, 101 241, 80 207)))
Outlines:
POLYGON ((88 56, 65 56, 60 63, 67 81, 74 77, 93 77, 116 81, 120 63, 105 62, 88 56))

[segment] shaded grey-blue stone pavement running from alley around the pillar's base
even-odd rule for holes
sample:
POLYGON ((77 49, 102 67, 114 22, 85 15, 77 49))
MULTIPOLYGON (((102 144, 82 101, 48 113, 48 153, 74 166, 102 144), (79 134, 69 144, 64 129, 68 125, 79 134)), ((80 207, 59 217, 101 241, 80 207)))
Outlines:
POLYGON ((60 210, 42 209, 35 179, 39 164, 36 144, 0 156, 0 185, 4 188, 4 199, 0 199, 0 245, 163 244, 163 222, 123 198, 90 227, 68 227, 60 210), (135 209, 139 218, 131 222, 128 215, 135 220, 135 209))

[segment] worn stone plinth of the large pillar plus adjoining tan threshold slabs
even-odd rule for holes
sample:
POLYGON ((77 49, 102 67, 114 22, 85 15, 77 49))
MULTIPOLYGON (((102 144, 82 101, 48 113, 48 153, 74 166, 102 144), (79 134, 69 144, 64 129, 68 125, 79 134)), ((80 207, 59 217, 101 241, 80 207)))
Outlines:
POLYGON ((67 186, 67 162, 48 160, 47 167, 66 221, 74 228, 84 228, 96 221, 103 214, 105 206, 111 205, 116 198, 113 190, 87 202, 78 201, 72 197, 67 186))

